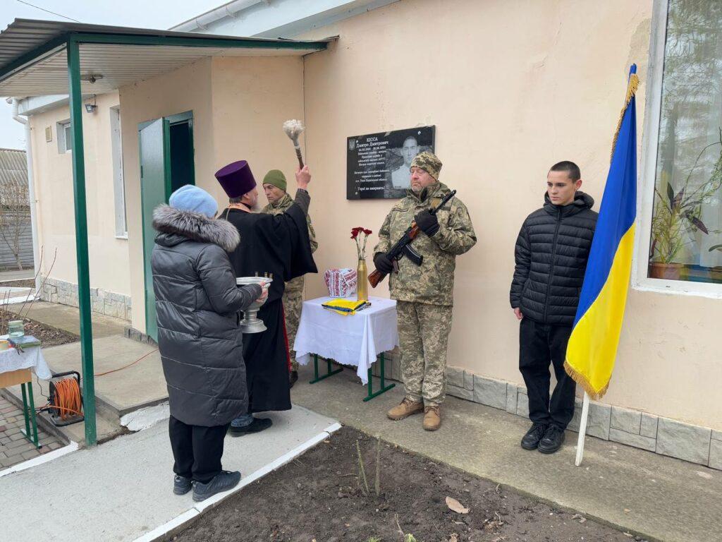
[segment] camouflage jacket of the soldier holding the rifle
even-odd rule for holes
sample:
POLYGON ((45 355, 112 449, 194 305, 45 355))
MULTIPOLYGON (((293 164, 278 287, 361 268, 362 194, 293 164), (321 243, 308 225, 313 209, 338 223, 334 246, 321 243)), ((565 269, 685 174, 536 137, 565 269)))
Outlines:
MULTIPOLYGON (((388 252, 404 235, 419 212, 435 207, 450 190, 441 183, 432 184, 421 194, 406 191, 406 197, 393 206, 378 233, 379 242, 373 254, 388 252)), ((391 273, 391 298, 435 305, 453 305, 453 273, 456 256, 464 254, 477 243, 469 211, 454 197, 437 213, 439 231, 429 237, 419 232, 412 247, 424 257, 417 266, 406 257, 399 259, 399 273, 391 273)))

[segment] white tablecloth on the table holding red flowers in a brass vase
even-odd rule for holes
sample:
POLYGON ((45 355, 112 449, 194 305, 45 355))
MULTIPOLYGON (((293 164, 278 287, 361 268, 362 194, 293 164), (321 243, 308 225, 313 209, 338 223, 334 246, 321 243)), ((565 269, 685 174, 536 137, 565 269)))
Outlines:
POLYGON ((370 307, 343 316, 323 309, 321 304, 331 299, 321 297, 303 302, 293 345, 296 360, 306 365, 311 354, 318 354, 342 365, 357 366, 356 374, 366 384, 368 368, 376 356, 399 345, 396 301, 373 297, 369 299, 370 307))

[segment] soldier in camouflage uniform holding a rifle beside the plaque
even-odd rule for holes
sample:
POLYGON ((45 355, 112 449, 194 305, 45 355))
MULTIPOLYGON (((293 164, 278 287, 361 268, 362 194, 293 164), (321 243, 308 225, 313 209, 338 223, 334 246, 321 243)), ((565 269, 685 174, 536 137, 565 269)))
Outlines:
POLYGON ((391 298, 396 299, 401 371, 406 397, 388 411, 402 420, 424 411, 424 429, 441 425, 440 405, 445 396, 446 347, 451 331, 453 273, 456 256, 477 242, 469 211, 458 198, 451 199, 436 215, 429 209, 450 192, 438 181, 440 160, 432 152, 417 155, 411 165, 412 187, 393 206, 379 231, 373 262, 389 274, 391 298), (421 266, 402 257, 398 272, 386 252, 415 221, 419 233, 414 249, 424 257, 421 266))

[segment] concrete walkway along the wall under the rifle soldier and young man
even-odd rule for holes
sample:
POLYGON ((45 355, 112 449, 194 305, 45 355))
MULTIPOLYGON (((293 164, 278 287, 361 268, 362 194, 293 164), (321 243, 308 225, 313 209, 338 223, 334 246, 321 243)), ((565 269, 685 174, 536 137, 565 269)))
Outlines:
POLYGON ((355 372, 347 369, 311 385, 312 373, 310 366, 301 368, 293 403, 344 425, 644 538, 722 540, 718 470, 591 436, 576 468, 576 433, 567 432, 567 444, 552 456, 528 452, 519 446, 529 429, 523 418, 454 397, 446 399, 443 426, 430 433, 422 429, 422 416, 386 418, 386 410, 404 397, 402 384, 363 403, 366 390, 355 372))

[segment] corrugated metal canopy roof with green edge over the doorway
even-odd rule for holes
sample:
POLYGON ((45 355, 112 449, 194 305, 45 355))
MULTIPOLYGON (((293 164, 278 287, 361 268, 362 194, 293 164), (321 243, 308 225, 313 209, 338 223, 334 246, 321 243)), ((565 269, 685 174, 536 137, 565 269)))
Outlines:
POLYGON ((67 94, 71 39, 79 43, 83 94, 108 93, 208 56, 304 55, 325 49, 330 41, 16 19, 0 33, 0 96, 67 94))

